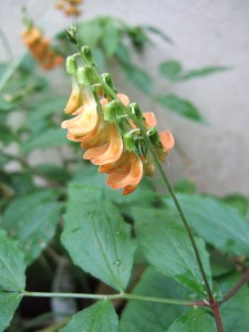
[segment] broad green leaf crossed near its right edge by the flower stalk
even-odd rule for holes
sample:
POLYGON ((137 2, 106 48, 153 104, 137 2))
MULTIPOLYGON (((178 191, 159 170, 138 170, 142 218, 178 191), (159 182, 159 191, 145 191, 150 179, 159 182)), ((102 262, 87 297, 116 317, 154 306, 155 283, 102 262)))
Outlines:
MULTIPOLYGON (((137 241, 148 262, 162 273, 191 290, 205 293, 203 278, 186 229, 174 215, 157 209, 134 209, 137 241)), ((196 238, 205 272, 211 283, 209 256, 205 243, 196 238)))

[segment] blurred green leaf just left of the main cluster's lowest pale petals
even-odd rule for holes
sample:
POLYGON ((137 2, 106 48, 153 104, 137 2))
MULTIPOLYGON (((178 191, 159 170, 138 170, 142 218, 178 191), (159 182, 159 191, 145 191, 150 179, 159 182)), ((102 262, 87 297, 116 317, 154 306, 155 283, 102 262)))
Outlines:
POLYGON ((24 153, 29 153, 35 148, 51 147, 54 145, 63 145, 68 142, 65 132, 61 128, 50 128, 42 134, 29 138, 22 144, 24 153))

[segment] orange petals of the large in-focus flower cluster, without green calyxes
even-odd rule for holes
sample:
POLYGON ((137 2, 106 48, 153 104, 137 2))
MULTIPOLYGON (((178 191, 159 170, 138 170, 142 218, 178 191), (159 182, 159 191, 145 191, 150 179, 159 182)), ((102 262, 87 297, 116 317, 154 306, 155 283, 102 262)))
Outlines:
MULTIPOLYGON (((126 95, 117 94, 117 97, 125 106, 128 105, 129 100, 126 95)), ((134 148, 133 151, 133 147, 131 149, 126 146, 127 143, 123 143, 123 135, 126 131, 131 131, 131 135, 136 133, 134 135, 141 139, 139 129, 136 131, 131 120, 123 117, 125 125, 121 127, 113 122, 112 116, 111 123, 104 120, 107 103, 107 98, 94 96, 90 87, 80 87, 76 81, 73 82, 72 93, 65 107, 65 113, 73 117, 64 121, 62 127, 68 128, 69 139, 81 143, 81 147, 85 149, 83 158, 98 165, 98 172, 107 175, 106 184, 113 189, 123 188, 123 195, 128 195, 136 189, 144 173, 147 175, 155 173, 155 163, 148 151, 143 154, 142 149, 134 148)), ((112 113, 112 108, 108 110, 112 113)), ((114 114, 115 112, 116 108, 114 114)), ((122 113, 118 113, 118 116, 122 118, 122 113)), ((145 128, 154 129, 156 126, 154 113, 143 113, 143 117, 145 128)), ((163 160, 173 148, 174 138, 168 132, 163 132, 159 136, 157 134, 156 137, 158 142, 153 145, 153 148, 163 160)))

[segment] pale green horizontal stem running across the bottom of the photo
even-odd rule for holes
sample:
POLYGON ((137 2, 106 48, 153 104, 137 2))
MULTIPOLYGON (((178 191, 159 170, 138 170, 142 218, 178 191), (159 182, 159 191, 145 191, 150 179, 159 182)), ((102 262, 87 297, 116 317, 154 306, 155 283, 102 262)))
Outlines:
MULTIPOLYGON (((177 299, 166 299, 157 297, 146 297, 137 295, 129 293, 117 293, 117 294, 91 294, 91 293, 53 293, 53 292, 29 292, 23 291, 22 297, 32 297, 32 298, 64 298, 64 299, 89 299, 89 300, 137 300, 146 302, 157 302, 165 304, 175 304, 175 305, 196 305, 197 302, 190 302, 188 300, 177 300, 177 299)), ((201 302, 201 301, 200 301, 201 302)), ((203 302, 201 302, 203 303, 203 302)), ((198 304, 197 304, 198 305, 198 304)))

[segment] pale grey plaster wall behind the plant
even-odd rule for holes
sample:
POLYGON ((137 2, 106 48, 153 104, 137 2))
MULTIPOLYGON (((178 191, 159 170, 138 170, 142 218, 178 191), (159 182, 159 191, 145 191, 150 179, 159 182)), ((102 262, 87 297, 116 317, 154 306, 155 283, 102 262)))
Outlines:
MULTIPOLYGON (((53 3, 52 0, 1 0, 0 25, 14 55, 24 50, 19 40, 22 4, 49 35, 70 23, 53 10, 53 3)), ((145 110, 153 106, 160 117, 160 127, 170 128, 176 136, 177 148, 168 160, 173 179, 187 175, 204 191, 249 195, 249 1, 85 0, 83 10, 85 20, 115 15, 131 24, 153 24, 172 37, 174 46, 155 39, 156 48, 137 59, 153 74, 160 92, 169 87, 159 79, 156 64, 166 59, 179 59, 187 70, 211 64, 234 68, 170 87, 201 110, 208 126, 178 118, 142 94, 137 98, 145 110)), ((4 56, 1 48, 0 59, 4 56)), ((129 93, 135 97, 131 87, 129 93)))

